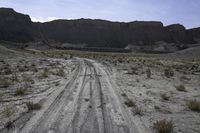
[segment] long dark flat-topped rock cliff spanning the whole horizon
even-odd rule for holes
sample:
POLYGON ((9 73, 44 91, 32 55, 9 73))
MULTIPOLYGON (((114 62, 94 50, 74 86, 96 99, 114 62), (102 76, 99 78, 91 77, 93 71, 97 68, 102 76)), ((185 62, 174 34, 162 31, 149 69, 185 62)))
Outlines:
POLYGON ((188 32, 182 25, 164 27, 161 22, 78 19, 33 23, 28 15, 0 8, 0 40, 6 41, 53 40, 87 47, 125 48, 128 45, 155 45, 159 41, 194 43, 193 35, 196 36, 196 32, 188 32))

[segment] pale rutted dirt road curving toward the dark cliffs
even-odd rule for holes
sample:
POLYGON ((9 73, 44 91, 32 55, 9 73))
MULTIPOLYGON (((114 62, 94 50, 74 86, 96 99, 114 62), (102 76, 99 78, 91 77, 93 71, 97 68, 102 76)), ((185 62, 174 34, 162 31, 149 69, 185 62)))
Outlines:
POLYGON ((76 60, 79 65, 72 79, 14 132, 147 133, 124 105, 109 69, 94 60, 76 60))

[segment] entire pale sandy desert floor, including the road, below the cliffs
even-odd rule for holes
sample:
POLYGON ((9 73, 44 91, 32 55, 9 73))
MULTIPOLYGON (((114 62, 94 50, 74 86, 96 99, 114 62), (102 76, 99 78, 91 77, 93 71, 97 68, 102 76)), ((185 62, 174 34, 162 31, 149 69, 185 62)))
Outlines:
POLYGON ((162 119, 173 121, 175 133, 200 132, 200 113, 186 106, 200 101, 199 60, 11 55, 0 59, 2 133, 153 133, 153 123, 162 119), (169 66, 174 75, 167 78, 169 66), (3 79, 12 82, 5 87, 3 79), (16 95, 17 88, 26 88, 25 94, 16 95), (28 111, 29 101, 41 108, 28 111))

